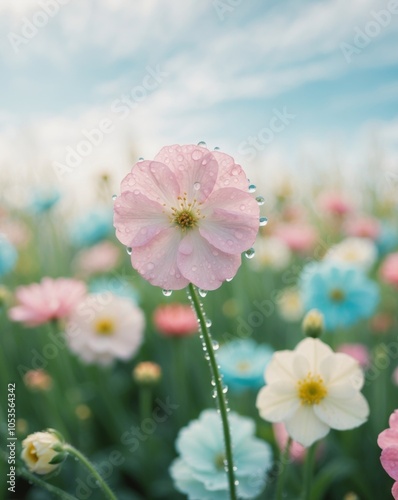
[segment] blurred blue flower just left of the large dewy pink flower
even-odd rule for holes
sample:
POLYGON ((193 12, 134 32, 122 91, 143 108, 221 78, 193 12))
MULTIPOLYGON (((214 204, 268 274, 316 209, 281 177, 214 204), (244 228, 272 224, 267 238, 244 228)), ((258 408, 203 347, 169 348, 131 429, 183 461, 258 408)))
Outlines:
POLYGON ((70 237, 77 247, 91 246, 113 233, 112 210, 97 208, 75 219, 70 237))

